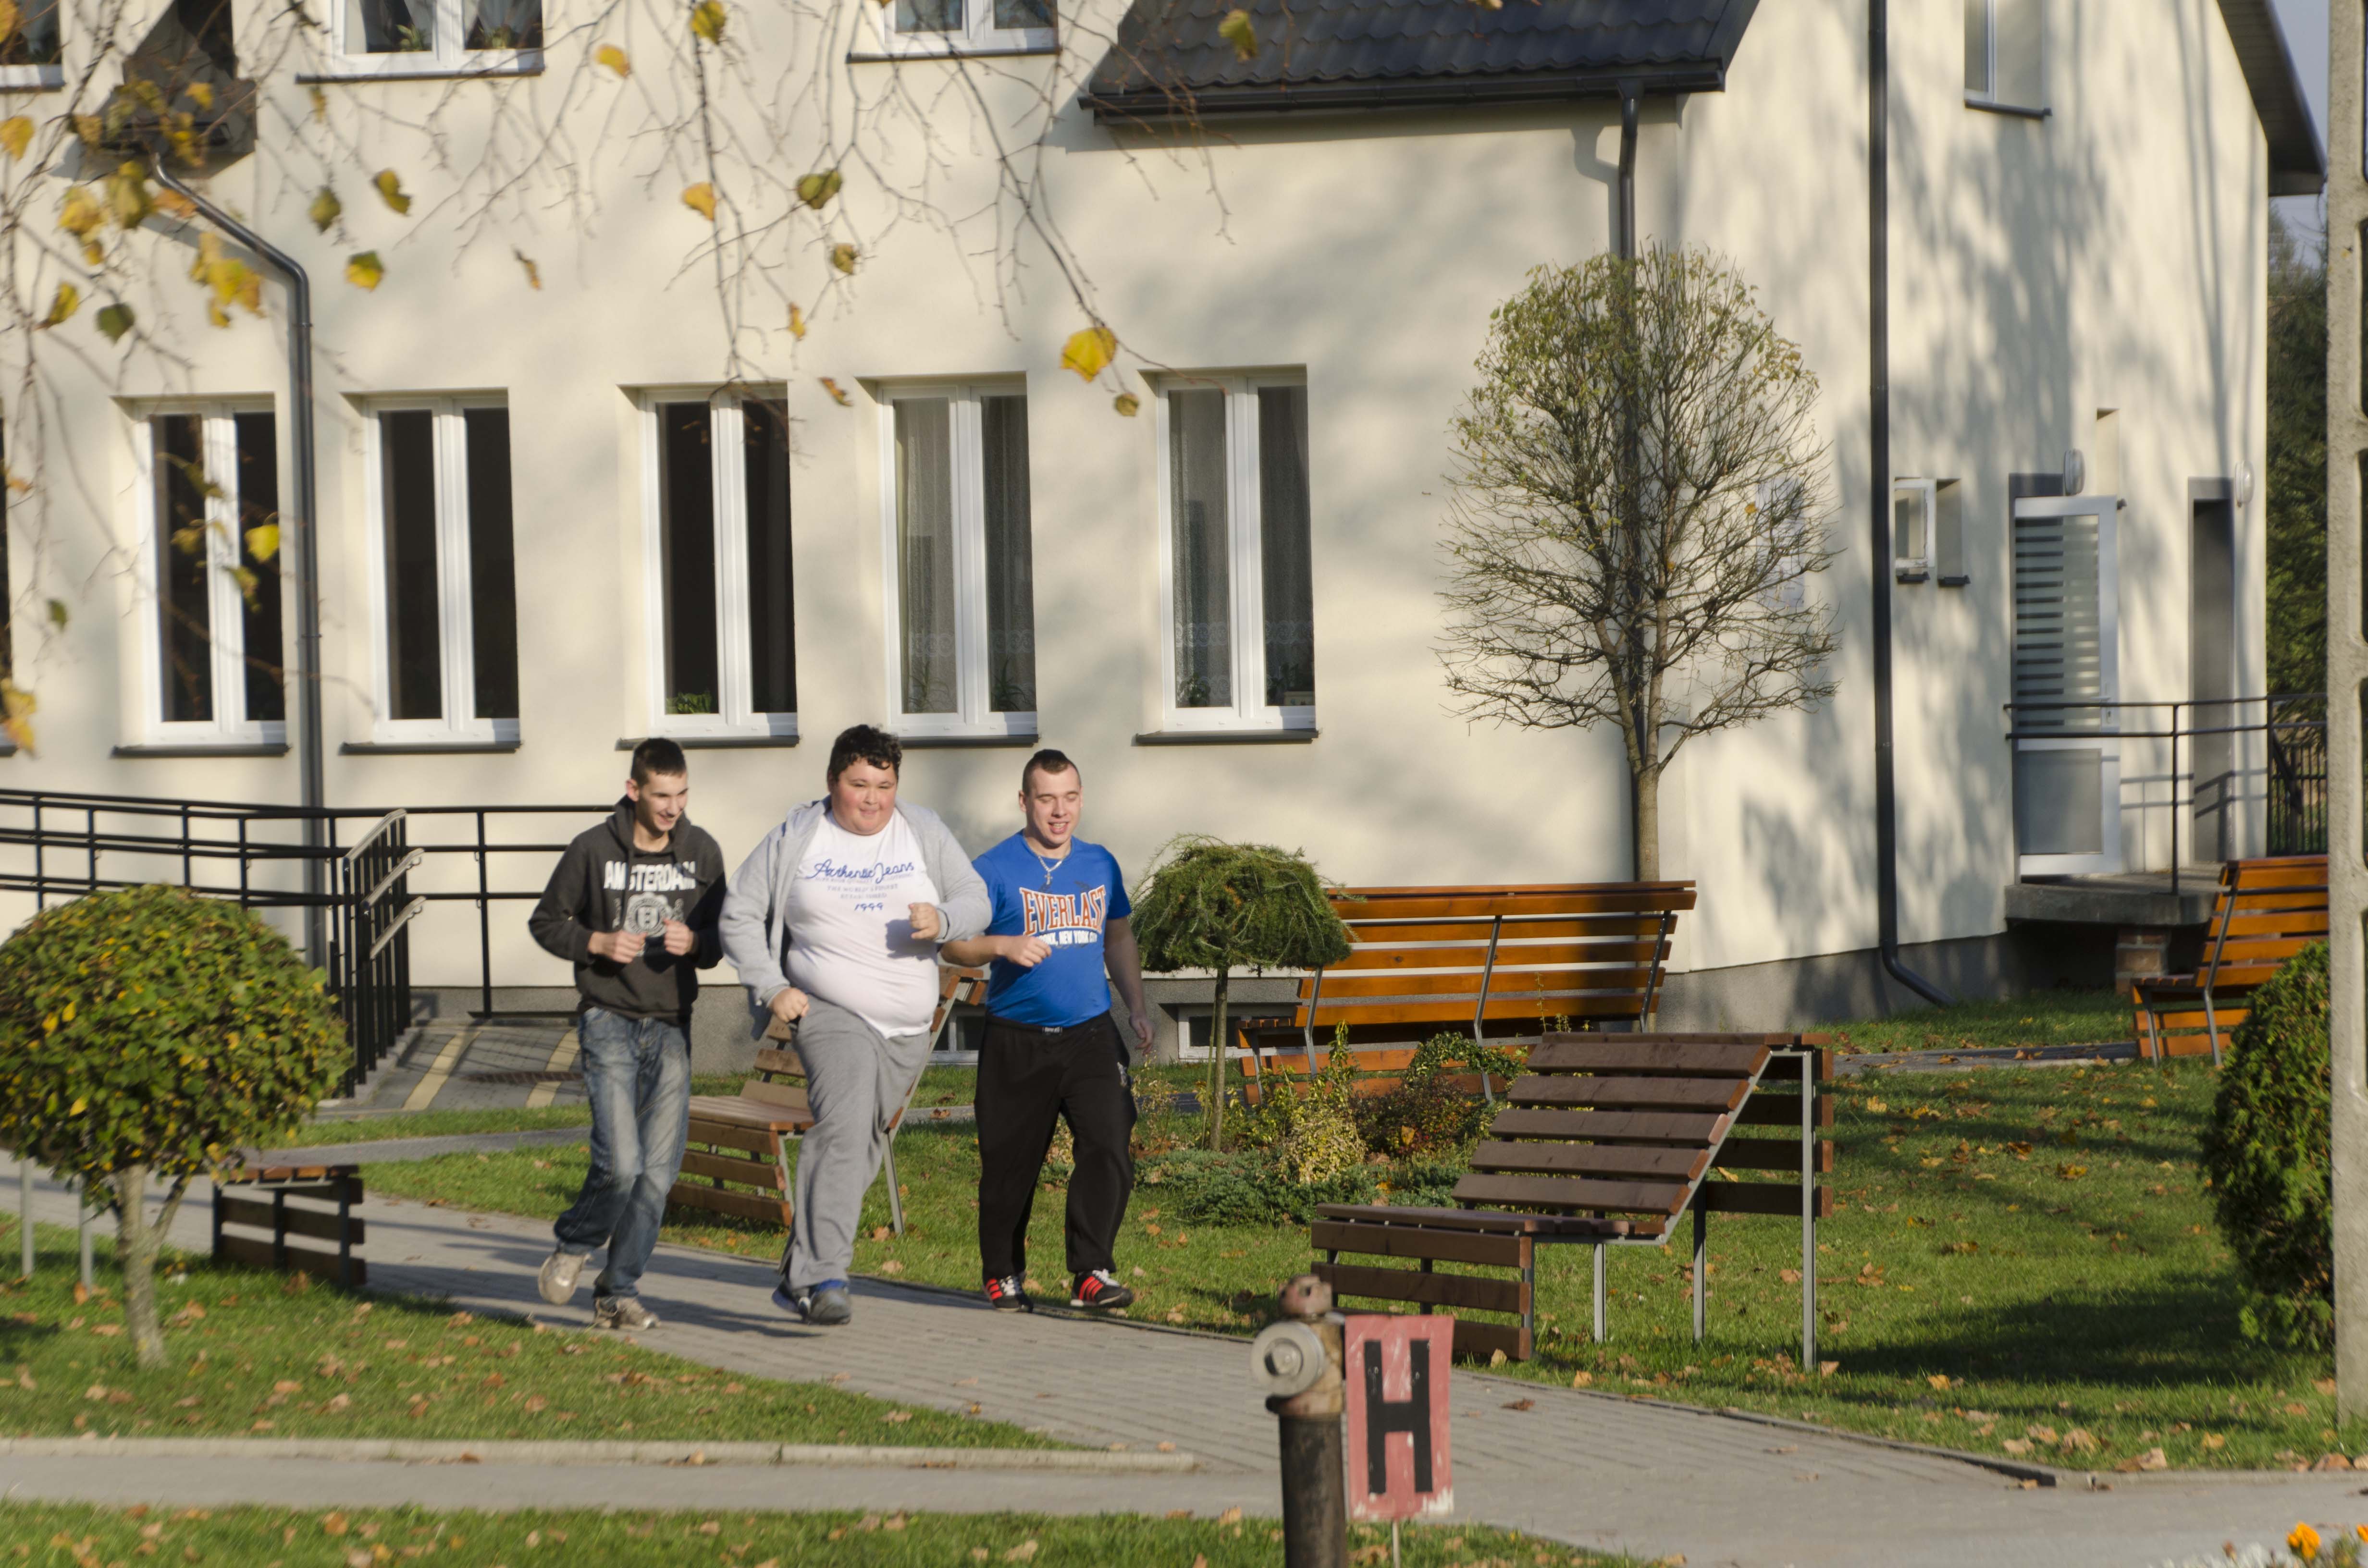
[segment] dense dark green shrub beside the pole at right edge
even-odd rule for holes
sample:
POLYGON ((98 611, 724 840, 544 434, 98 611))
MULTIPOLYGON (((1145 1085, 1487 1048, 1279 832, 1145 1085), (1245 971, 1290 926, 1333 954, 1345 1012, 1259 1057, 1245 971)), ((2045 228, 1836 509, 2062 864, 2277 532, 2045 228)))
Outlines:
POLYGON ((2332 1345, 2325 943, 2297 952, 2252 995, 2202 1153, 2219 1229, 2245 1277, 2245 1334, 2287 1348, 2332 1345))

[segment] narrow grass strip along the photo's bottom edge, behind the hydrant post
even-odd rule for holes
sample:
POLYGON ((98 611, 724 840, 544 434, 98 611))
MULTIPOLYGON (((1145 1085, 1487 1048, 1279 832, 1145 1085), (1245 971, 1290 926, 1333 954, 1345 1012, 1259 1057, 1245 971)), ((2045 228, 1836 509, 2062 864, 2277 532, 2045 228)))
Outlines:
MULTIPOLYGON (((0 1504, 0 1537, 17 1559, 36 1549, 81 1563, 234 1563, 237 1568, 348 1568, 374 1561, 533 1563, 604 1568, 673 1563, 831 1563, 834 1568, 919 1568, 940 1563, 1032 1563, 1032 1568, 1111 1568, 1172 1563, 1184 1568, 1265 1568, 1281 1556, 1272 1521, 1222 1518, 1047 1518, 1040 1514, 443 1514, 426 1509, 92 1509, 81 1504, 0 1504), (47 1542, 28 1547, 26 1542, 47 1542), (57 1551, 50 1551, 57 1549, 57 1551)), ((1388 1530, 1350 1535, 1352 1561, 1388 1530)), ((1532 1568, 1589 1563, 1615 1568, 1634 1559, 1596 1556, 1508 1530, 1407 1525, 1404 1559, 1421 1568, 1532 1568)), ((7 1561, 7 1559, 0 1559, 7 1561)))

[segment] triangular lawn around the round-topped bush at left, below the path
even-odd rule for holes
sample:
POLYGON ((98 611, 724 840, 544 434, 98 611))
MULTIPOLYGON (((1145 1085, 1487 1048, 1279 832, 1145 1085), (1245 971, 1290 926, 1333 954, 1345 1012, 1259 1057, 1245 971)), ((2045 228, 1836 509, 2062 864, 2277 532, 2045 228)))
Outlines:
MULTIPOLYGON (((73 1232, 40 1225, 0 1284, 0 1435, 710 1438, 1056 1447, 999 1421, 829 1383, 729 1376, 592 1329, 535 1331, 403 1296, 348 1296, 204 1258, 159 1274, 173 1364, 140 1371, 109 1236, 76 1300, 73 1232)), ((17 1258, 14 1217, 0 1258, 17 1258)))

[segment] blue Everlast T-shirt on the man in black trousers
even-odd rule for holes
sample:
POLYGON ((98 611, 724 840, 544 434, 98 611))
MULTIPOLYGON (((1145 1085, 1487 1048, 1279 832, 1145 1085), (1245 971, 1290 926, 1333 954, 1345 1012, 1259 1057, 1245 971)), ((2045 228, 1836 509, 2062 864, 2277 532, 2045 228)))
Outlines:
POLYGON ((1099 843, 1068 841, 1068 855, 1051 869, 1011 834, 973 860, 995 900, 987 936, 1037 936, 1051 943, 1035 969, 995 959, 987 971, 987 1016, 1014 1023, 1068 1028, 1111 1011, 1111 983, 1101 964, 1101 924, 1125 919, 1127 883, 1118 857, 1099 843))

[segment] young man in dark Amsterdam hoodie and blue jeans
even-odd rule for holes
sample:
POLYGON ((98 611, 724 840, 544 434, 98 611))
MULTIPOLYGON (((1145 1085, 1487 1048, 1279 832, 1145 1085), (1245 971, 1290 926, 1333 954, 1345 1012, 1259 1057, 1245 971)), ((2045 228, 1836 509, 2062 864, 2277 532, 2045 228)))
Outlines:
POLYGON ((658 1326, 635 1291, 689 1135, 699 971, 725 952, 715 931, 725 855, 691 827, 689 796, 682 746, 635 746, 616 815, 568 843, 526 921, 538 943, 575 964, 575 1033, 592 1101, 592 1170, 552 1227, 559 1248, 540 1289, 542 1300, 566 1305, 585 1258, 606 1246, 609 1267, 592 1281, 597 1329, 658 1326))

